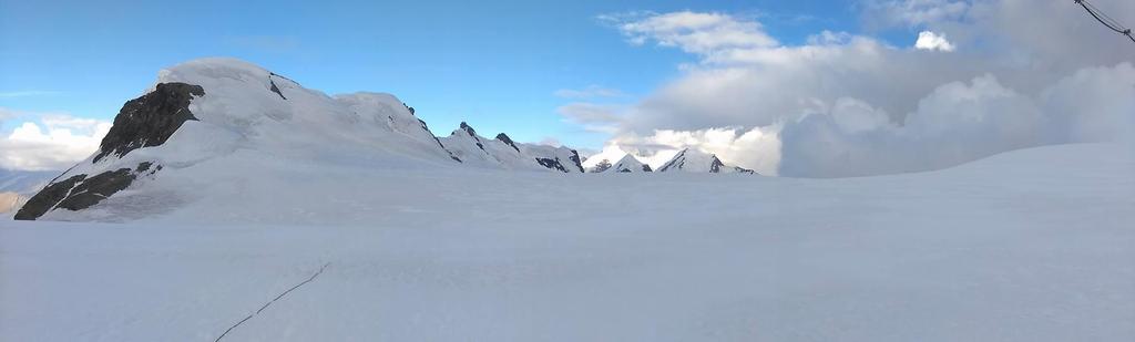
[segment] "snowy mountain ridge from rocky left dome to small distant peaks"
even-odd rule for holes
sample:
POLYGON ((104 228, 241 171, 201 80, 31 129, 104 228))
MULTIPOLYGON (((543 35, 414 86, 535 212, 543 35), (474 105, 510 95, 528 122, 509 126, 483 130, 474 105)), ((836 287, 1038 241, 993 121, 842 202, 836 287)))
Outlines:
MULTIPOLYGON (((575 149, 516 143, 503 132, 489 139, 465 122, 437 137, 394 95, 328 96, 258 66, 212 58, 161 70, 152 88, 123 105, 99 151, 54 177, 15 217, 84 220, 89 216, 68 212, 96 205, 100 210, 90 214, 103 217, 125 210, 169 210, 208 197, 210 185, 226 185, 215 190, 225 191, 238 187, 239 179, 279 178, 286 188, 286 182, 303 177, 359 166, 651 171, 625 153, 585 163, 575 149)), ((682 151, 658 171, 753 173, 693 149, 682 151)))

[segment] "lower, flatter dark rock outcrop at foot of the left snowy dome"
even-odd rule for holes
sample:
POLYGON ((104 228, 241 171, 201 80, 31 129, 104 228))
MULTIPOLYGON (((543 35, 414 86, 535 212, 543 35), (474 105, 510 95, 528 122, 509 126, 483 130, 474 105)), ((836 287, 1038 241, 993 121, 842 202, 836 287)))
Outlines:
POLYGON ((152 162, 143 162, 133 170, 124 168, 102 172, 94 177, 76 174, 62 181, 51 182, 39 194, 32 196, 16 213, 15 219, 31 221, 56 208, 69 211, 89 208, 107 199, 110 195, 126 189, 138 176, 153 174, 160 170, 161 165, 153 166, 152 162))

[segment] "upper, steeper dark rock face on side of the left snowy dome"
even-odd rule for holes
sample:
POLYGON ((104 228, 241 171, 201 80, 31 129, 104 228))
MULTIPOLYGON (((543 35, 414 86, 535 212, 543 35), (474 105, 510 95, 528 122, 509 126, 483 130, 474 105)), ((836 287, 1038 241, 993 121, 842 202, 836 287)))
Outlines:
POLYGON ((108 155, 121 156, 136 148, 165 144, 182 123, 196 120, 190 112, 190 100, 204 94, 197 85, 161 83, 153 92, 126 102, 102 138, 94 162, 108 155))

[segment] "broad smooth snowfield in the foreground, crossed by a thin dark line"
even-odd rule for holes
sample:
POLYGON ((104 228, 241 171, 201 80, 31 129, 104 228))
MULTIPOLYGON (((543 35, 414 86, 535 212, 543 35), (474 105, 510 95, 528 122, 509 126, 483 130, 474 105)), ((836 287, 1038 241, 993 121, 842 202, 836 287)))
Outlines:
POLYGON ((826 180, 241 153, 81 217, 119 223, 0 221, 0 340, 1135 341, 1128 147, 826 180))

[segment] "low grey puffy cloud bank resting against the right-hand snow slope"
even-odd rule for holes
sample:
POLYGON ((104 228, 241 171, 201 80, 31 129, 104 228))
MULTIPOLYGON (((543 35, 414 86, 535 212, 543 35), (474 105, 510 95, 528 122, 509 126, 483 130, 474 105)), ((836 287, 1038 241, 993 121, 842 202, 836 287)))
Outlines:
POLYGON ((1135 128, 1135 68, 1090 68, 1039 95, 992 75, 940 86, 901 126, 848 129, 839 113, 810 114, 780 131, 783 174, 851 177, 924 171, 1049 144, 1117 142, 1135 128), (1095 101, 1100 101, 1096 103, 1095 101))

